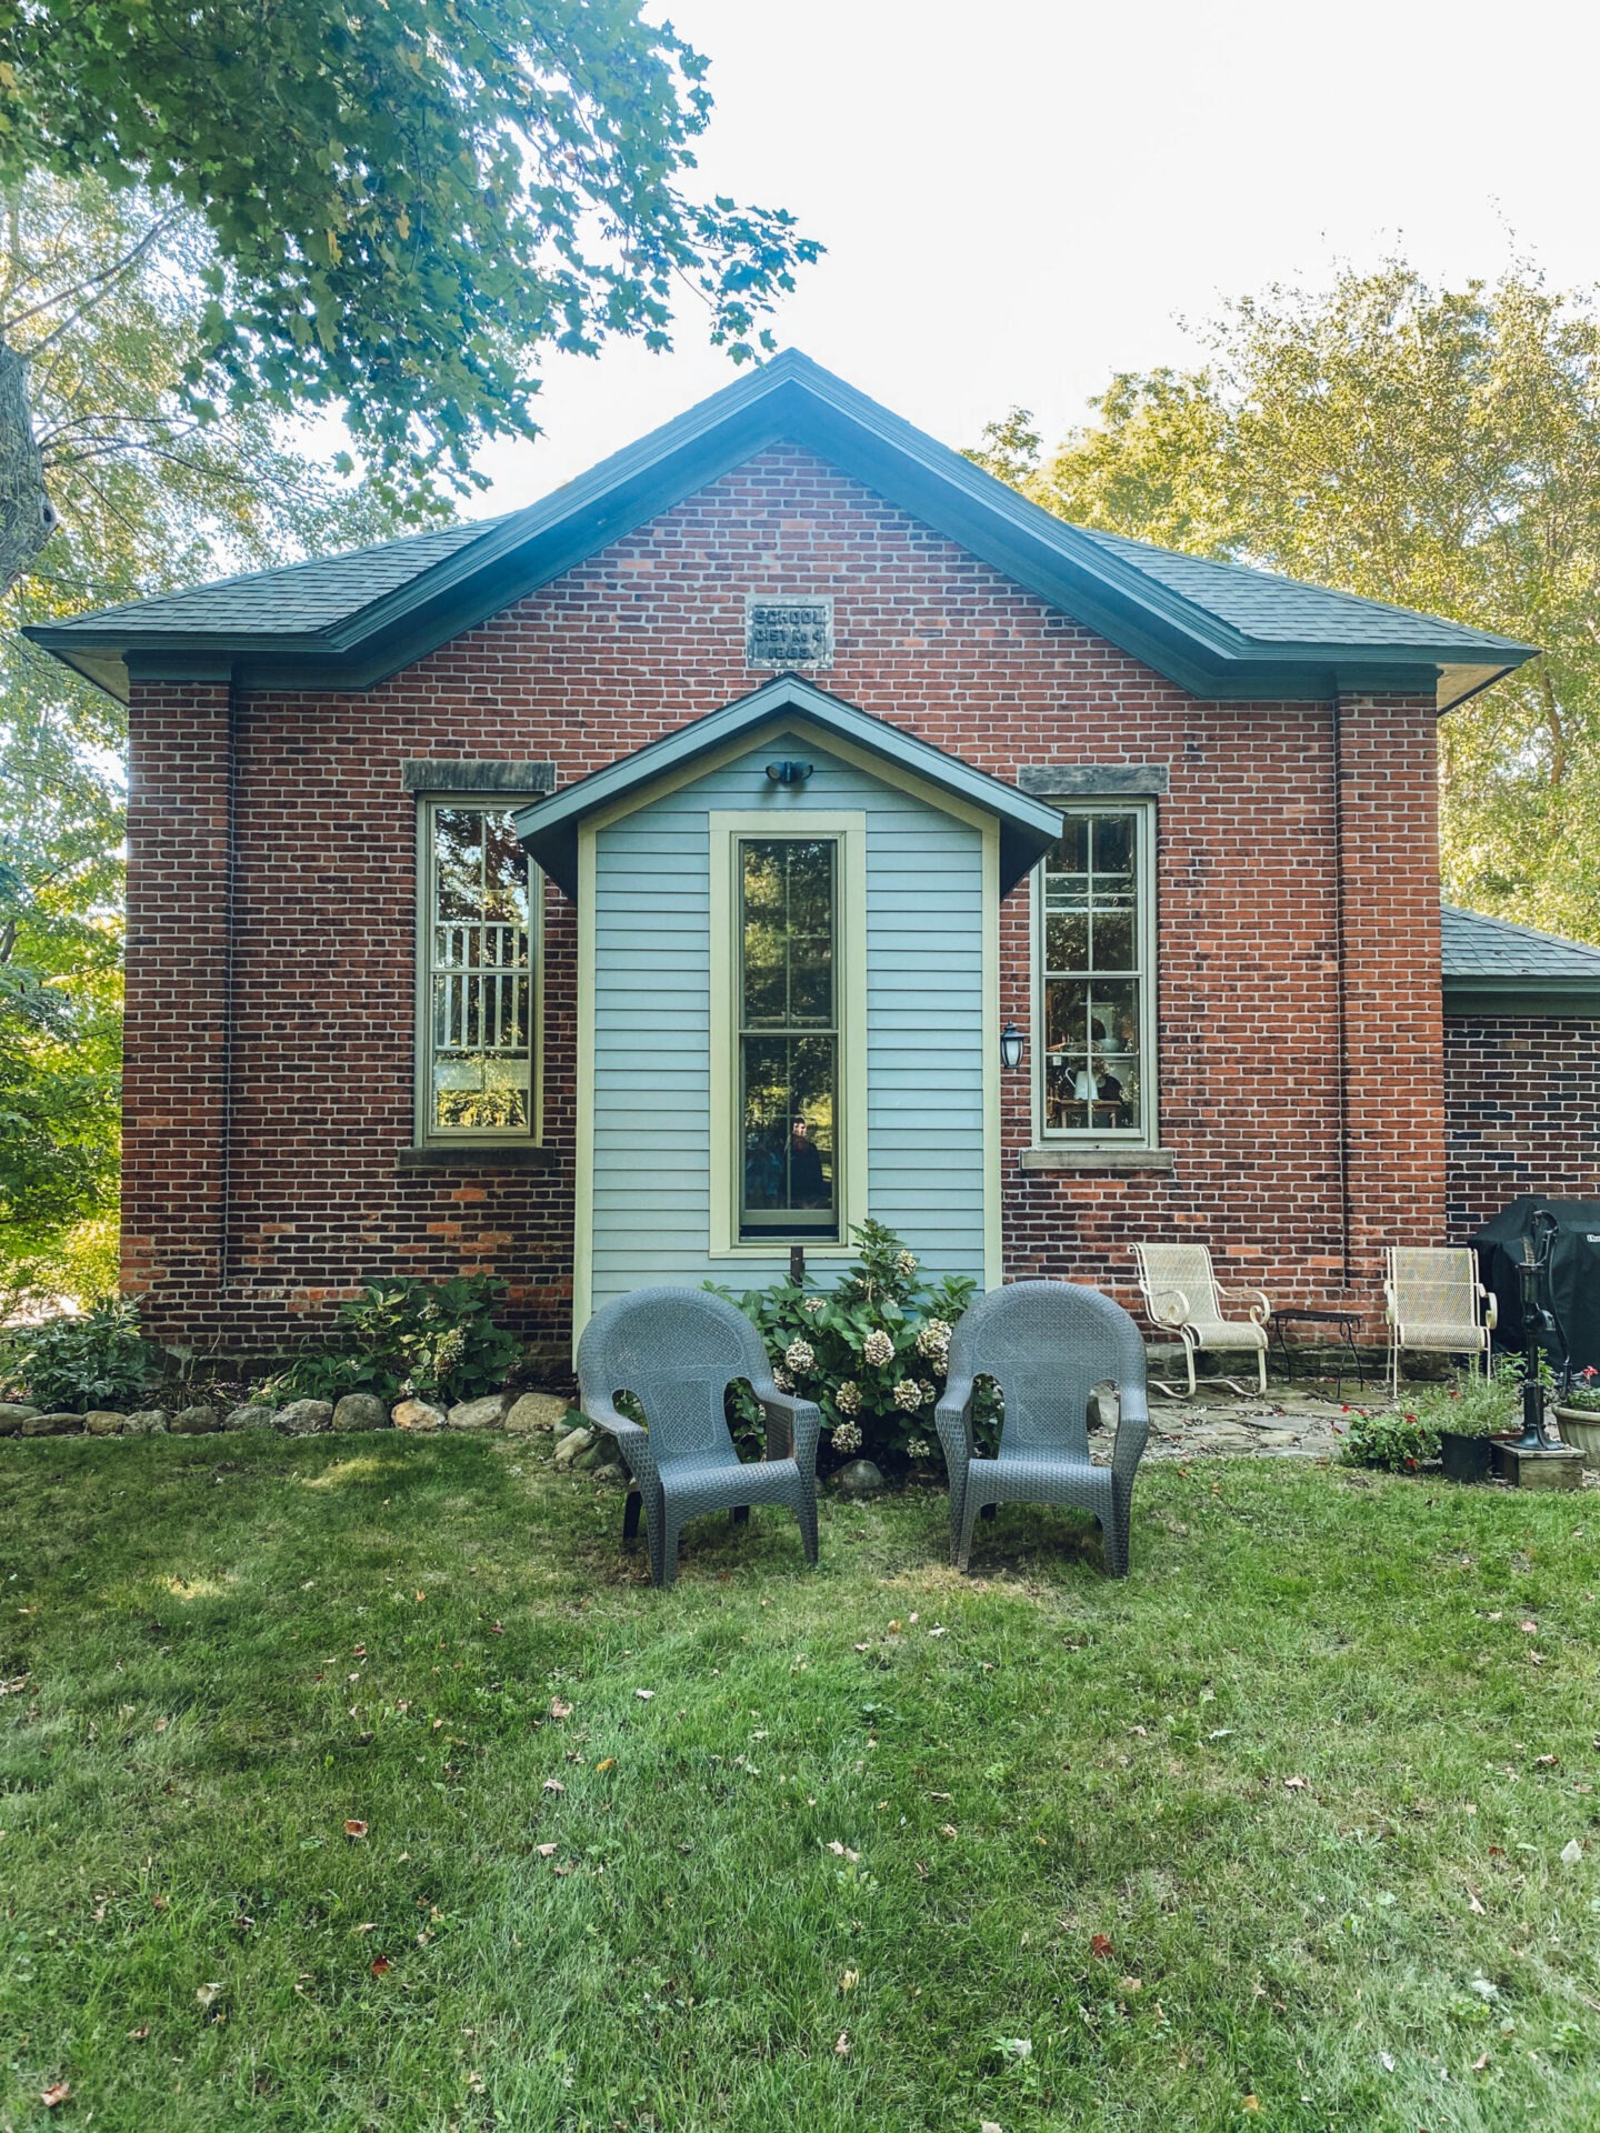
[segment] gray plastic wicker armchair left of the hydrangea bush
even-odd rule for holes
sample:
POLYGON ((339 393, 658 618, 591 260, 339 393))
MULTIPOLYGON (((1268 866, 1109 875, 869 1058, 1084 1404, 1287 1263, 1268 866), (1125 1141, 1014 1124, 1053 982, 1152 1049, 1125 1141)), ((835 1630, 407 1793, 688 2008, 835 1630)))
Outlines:
POLYGON ((708 1510, 749 1514, 785 1504, 800 1521, 806 1561, 817 1561, 817 1436, 821 1410, 772 1382, 762 1337, 745 1312, 704 1288, 636 1288, 597 1312, 578 1342, 578 1401, 617 1438, 634 1487, 623 1538, 640 1508, 651 1581, 678 1574, 678 1534, 708 1510), (766 1410, 766 1459, 742 1461, 723 1418, 723 1393, 747 1378, 766 1410), (617 1412, 631 1393, 649 1429, 617 1412))

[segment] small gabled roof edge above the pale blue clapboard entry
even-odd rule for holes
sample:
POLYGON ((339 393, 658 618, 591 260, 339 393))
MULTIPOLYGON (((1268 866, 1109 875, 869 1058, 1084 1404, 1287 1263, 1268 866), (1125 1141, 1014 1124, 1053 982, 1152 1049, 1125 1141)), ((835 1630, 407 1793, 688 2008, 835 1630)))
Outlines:
POLYGON ((779 674, 751 695, 593 770, 550 800, 521 808, 514 817, 516 834, 540 868, 576 902, 578 830, 591 815, 629 798, 644 804, 663 779, 691 770, 700 759, 742 738, 753 742, 785 717, 821 727, 823 736, 847 740, 877 755, 887 768, 911 772, 924 785, 992 815, 1001 840, 1001 894, 1015 887, 1060 836, 1060 813, 1043 800, 973 770, 930 740, 890 725, 887 719, 875 719, 796 674, 779 674))

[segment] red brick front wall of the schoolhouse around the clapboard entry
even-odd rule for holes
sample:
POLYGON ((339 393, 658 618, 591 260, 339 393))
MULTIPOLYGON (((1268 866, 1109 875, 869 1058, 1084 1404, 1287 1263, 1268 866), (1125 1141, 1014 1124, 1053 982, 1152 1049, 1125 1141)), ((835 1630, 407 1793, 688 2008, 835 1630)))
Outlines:
MULTIPOLYGON (((561 783, 582 776, 764 678, 742 663, 751 593, 832 593, 836 661, 817 678, 998 776, 1035 764, 1169 766, 1161 1120, 1175 1169, 1024 1173, 1028 1077, 1007 1077, 1009 1269, 1099 1280, 1133 1301, 1131 1241, 1180 1233, 1276 1297, 1340 1286, 1329 706, 1195 702, 830 467, 774 448, 365 695, 262 693, 237 706, 222 1284, 211 1064, 222 695, 137 685, 132 761, 147 804, 132 832, 143 887, 126 1220, 141 1239, 130 1282, 160 1331, 271 1346, 369 1273, 484 1267, 516 1282, 533 1331, 561 1340, 572 907, 546 892, 546 1145, 561 1169, 399 1175, 414 985, 401 761, 553 759, 561 783), (205 808, 162 800, 188 751, 205 808), (173 985, 177 956, 194 968, 173 985), (158 1156, 166 1118, 190 1180, 177 1192, 179 1173, 158 1156)), ((1342 723, 1350 1246, 1370 1301, 1378 1244, 1427 1239, 1442 1220, 1434 715, 1421 700, 1370 700, 1348 702, 1342 723)), ((1003 943, 1003 1011, 1028 1028, 1026 889, 1007 898, 1003 943)))

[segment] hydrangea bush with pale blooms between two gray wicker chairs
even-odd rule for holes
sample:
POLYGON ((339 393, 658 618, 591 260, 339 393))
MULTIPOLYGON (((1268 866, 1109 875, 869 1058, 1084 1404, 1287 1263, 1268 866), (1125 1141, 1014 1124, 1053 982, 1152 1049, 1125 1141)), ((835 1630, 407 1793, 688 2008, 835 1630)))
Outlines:
MULTIPOLYGON (((757 1327, 779 1391, 821 1408, 823 1468, 860 1455, 915 1465, 939 1457, 932 1416, 949 1335, 977 1284, 949 1273, 924 1280, 915 1252, 881 1222, 862 1222, 851 1239, 860 1258, 832 1288, 783 1280, 734 1301, 757 1327)), ((740 1389, 734 1406, 736 1433, 757 1438, 755 1399, 740 1389)))

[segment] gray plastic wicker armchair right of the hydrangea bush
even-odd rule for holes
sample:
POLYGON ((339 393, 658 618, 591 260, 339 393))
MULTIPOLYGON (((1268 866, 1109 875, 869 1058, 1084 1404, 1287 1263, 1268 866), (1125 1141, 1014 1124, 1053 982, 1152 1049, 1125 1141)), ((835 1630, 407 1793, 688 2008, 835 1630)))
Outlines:
POLYGON ((1092 1512, 1105 1536, 1105 1568, 1129 1574, 1133 1476, 1150 1436, 1139 1329, 1099 1288, 1075 1282, 1011 1282, 992 1288, 956 1322, 949 1380, 934 1410, 949 1468, 949 1555, 966 1570, 973 1521, 990 1504, 1062 1504, 1092 1512), (973 1382, 994 1378, 1005 1399, 1001 1450, 973 1457, 973 1382), (1088 1457, 1088 1395, 1118 1389, 1109 1465, 1088 1457))

